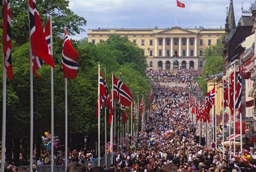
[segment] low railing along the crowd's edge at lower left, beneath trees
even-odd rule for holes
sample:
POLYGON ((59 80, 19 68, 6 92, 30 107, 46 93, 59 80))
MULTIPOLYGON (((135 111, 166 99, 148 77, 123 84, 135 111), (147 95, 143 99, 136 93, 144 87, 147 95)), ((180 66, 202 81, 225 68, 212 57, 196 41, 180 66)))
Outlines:
MULTIPOLYGON (((88 168, 88 164, 91 164, 91 167, 97 167, 98 166, 98 161, 86 161, 84 163, 85 167, 88 168)), ((100 159, 100 166, 102 167, 105 164, 105 156, 100 159)), ((111 164, 111 154, 107 154, 107 163, 106 166, 109 168, 111 164)), ((54 171, 55 172, 64 172, 65 171, 65 166, 64 165, 54 165, 54 171)), ((28 172, 29 171, 29 166, 22 166, 18 170, 19 172, 28 172)), ((37 169, 34 171, 36 172, 50 172, 51 171, 51 165, 44 165, 44 166, 38 166, 37 169)))

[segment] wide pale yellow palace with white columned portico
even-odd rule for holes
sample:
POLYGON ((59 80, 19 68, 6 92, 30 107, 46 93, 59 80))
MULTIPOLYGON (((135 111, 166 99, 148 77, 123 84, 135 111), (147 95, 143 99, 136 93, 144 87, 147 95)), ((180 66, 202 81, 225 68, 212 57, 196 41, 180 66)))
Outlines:
POLYGON ((88 30, 88 42, 98 44, 111 34, 129 38, 144 49, 148 69, 171 69, 173 59, 178 67, 201 69, 204 66, 204 49, 217 44, 225 33, 224 28, 98 28, 88 30))

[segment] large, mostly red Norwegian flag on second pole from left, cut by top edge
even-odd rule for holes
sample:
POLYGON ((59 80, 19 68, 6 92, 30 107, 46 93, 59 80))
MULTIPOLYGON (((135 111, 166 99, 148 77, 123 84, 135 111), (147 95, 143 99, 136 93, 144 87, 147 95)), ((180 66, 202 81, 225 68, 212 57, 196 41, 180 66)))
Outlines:
POLYGON ((49 64, 55 68, 52 55, 49 54, 49 47, 45 40, 41 18, 37 11, 36 0, 29 0, 29 25, 32 56, 38 57, 45 64, 49 64))

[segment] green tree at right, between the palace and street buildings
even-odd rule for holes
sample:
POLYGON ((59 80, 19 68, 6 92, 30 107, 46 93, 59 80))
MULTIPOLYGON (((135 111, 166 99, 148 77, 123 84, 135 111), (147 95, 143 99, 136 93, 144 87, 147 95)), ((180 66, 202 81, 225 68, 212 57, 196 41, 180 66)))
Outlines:
POLYGON ((199 80, 199 87, 203 91, 203 95, 207 93, 207 82, 205 80, 206 72, 208 75, 213 75, 223 71, 222 51, 224 47, 221 40, 223 40, 222 36, 218 39, 218 44, 208 46, 204 51, 206 63, 199 80))

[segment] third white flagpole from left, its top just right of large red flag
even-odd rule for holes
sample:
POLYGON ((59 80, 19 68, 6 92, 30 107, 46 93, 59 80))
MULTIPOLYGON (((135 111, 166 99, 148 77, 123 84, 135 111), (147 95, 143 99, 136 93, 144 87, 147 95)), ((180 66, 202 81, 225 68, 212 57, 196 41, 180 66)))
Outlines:
MULTIPOLYGON (((53 46, 52 46, 52 14, 50 13, 50 34, 51 34, 51 55, 53 57, 53 46)), ((54 153, 54 102, 53 102, 53 68, 51 67, 51 171, 53 172, 54 160, 53 160, 53 153, 54 153)))

